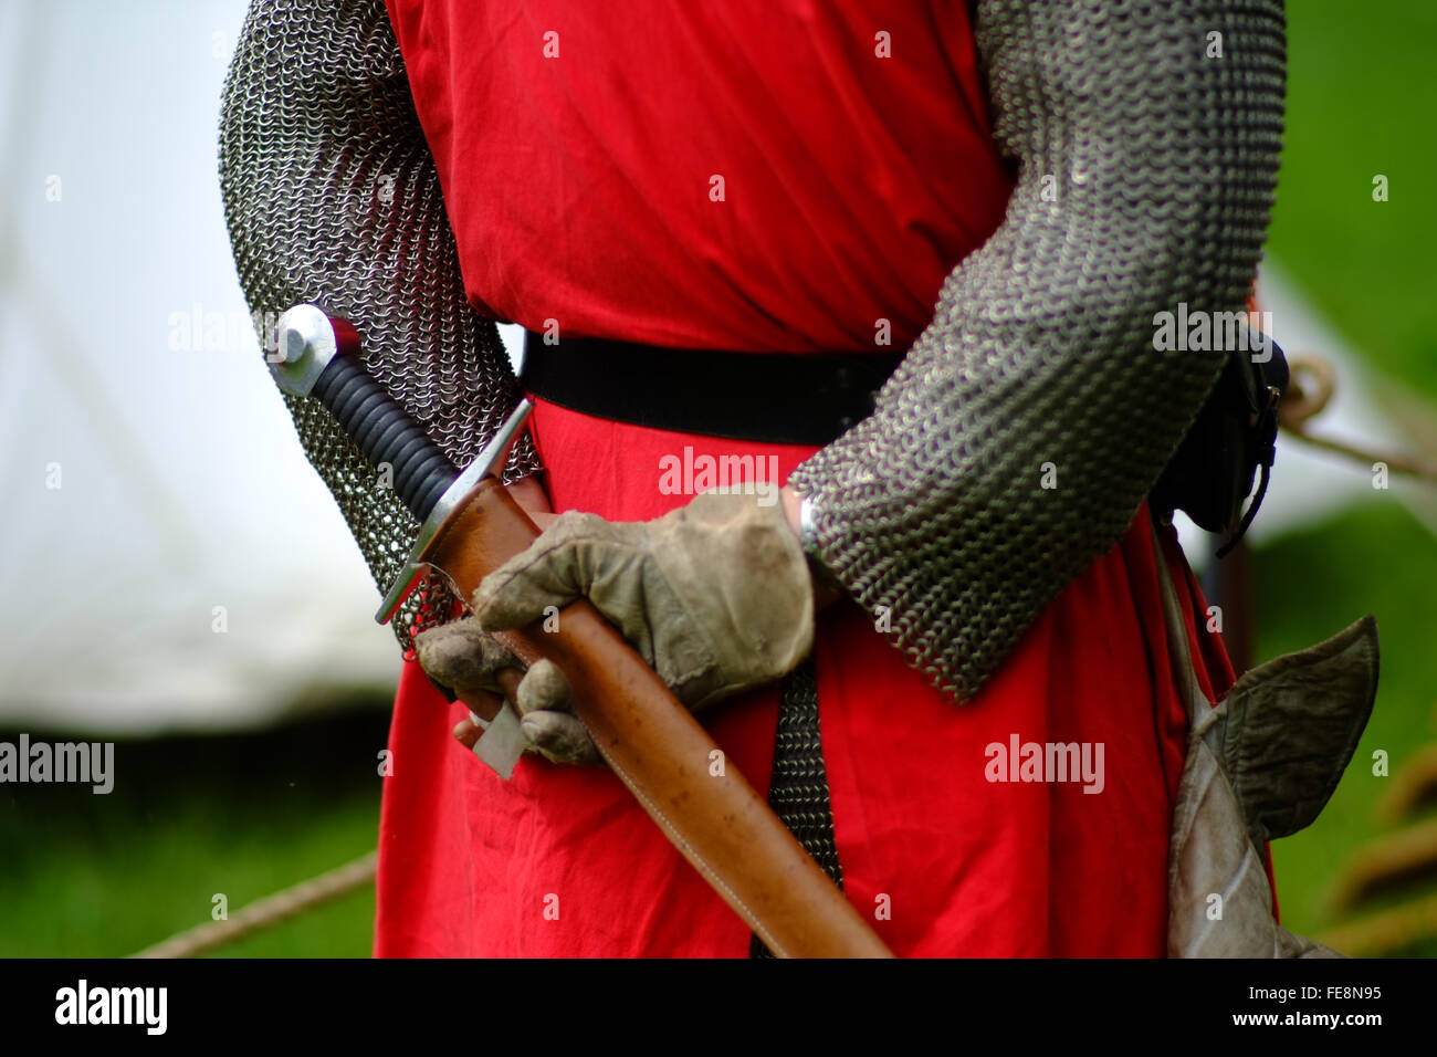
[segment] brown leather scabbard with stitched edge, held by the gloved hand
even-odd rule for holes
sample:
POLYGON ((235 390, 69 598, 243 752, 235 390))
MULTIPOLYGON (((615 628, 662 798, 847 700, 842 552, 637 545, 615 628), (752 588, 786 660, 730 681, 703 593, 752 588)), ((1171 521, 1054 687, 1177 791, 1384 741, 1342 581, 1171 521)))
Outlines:
MULTIPOLYGON (((503 485, 484 477, 422 557, 467 598, 537 535, 503 485)), ((553 631, 530 626, 502 637, 526 664, 547 657, 559 666, 575 715, 614 774, 773 953, 892 956, 708 732, 586 600, 563 608, 553 631)))

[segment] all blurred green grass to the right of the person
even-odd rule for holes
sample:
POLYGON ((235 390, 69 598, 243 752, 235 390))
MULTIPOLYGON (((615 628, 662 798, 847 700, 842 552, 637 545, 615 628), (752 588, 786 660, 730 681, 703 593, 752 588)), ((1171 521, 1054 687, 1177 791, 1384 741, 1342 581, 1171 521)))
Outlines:
MULTIPOLYGON (((1288 22, 1288 135, 1269 255, 1384 383, 1437 404, 1437 6, 1292 0, 1288 22), (1372 200, 1377 174, 1390 181, 1385 203, 1372 200)), ((1334 923, 1328 897, 1341 867, 1387 831, 1374 805, 1391 778, 1371 774, 1372 751, 1388 752, 1395 775, 1437 739, 1437 539, 1391 493, 1372 492, 1361 508, 1262 548, 1256 571, 1259 660, 1362 613, 1377 616, 1382 640, 1377 706, 1352 767, 1312 827, 1273 844, 1285 922, 1318 932, 1334 923)), ((1437 955, 1437 943, 1408 953, 1437 955)))

